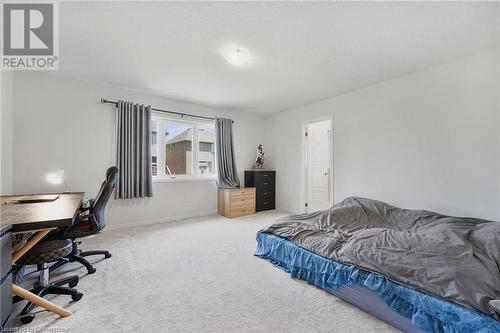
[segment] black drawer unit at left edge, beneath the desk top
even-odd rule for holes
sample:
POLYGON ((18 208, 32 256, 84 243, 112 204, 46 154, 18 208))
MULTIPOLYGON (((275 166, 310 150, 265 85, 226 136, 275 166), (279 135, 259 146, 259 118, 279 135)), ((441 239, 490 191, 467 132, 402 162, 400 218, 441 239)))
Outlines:
POLYGON ((0 225, 0 331, 12 324, 12 238, 11 225, 0 225))

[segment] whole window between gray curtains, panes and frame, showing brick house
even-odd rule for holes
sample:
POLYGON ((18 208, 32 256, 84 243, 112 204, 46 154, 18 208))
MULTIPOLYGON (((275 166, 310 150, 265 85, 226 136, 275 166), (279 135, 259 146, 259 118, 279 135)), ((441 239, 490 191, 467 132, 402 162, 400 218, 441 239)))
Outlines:
POLYGON ((154 113, 151 121, 153 179, 213 179, 213 123, 154 113))

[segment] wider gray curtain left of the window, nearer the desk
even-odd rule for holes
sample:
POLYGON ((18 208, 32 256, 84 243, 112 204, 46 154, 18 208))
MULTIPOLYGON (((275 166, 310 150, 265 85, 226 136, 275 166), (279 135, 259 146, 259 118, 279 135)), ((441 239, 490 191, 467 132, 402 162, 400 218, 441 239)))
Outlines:
POLYGON ((153 196, 151 106, 119 101, 116 122, 117 199, 153 196))

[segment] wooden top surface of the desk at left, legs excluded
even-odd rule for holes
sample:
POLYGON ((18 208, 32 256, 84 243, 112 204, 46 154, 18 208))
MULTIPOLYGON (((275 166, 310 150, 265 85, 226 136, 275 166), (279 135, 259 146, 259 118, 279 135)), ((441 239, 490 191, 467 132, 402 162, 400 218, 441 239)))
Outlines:
POLYGON ((19 232, 71 226, 82 203, 84 193, 57 194, 59 194, 59 198, 55 201, 23 204, 9 202, 26 198, 29 194, 1 196, 0 229, 12 225, 11 231, 19 232))

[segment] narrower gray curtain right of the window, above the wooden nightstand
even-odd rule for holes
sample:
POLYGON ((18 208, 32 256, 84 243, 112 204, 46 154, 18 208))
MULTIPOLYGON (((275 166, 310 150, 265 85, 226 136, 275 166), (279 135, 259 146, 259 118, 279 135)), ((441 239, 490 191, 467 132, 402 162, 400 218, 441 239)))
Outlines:
POLYGON ((234 156, 233 121, 215 118, 215 151, 217 161, 217 184, 222 188, 240 186, 234 156))

